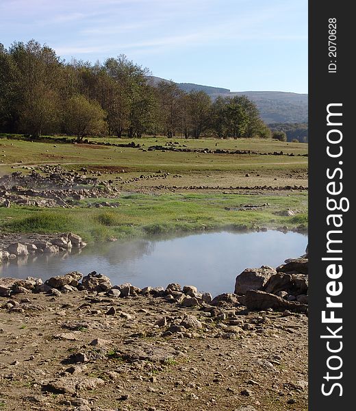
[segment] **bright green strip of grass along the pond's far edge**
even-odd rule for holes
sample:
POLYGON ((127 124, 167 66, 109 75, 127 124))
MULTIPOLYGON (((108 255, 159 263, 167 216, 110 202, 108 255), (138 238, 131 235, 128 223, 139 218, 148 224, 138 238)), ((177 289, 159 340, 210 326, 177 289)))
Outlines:
MULTIPOLYGON (((49 233, 72 231, 89 243, 96 240, 128 238, 176 231, 207 229, 288 229, 307 228, 307 195, 164 194, 121 195, 116 209, 84 207, 39 209, 14 207, 1 209, 1 232, 49 233), (251 205, 254 210, 234 210, 251 205), (267 204, 267 206, 263 206, 267 204), (229 209, 229 210, 228 210, 229 209), (280 215, 298 210, 295 216, 280 215)), ((115 200, 117 201, 117 199, 115 200)))

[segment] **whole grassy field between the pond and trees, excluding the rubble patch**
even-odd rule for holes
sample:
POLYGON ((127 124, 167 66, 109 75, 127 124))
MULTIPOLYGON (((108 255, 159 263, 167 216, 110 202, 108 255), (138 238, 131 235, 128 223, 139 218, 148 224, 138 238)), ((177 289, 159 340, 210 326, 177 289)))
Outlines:
MULTIPOLYGON (((113 138, 90 140, 131 141, 113 138)), ((217 144, 220 149, 307 153, 306 144, 275 140, 134 140, 143 149, 171 141, 190 148, 216 149, 217 144)), ((307 157, 142 151, 131 147, 63 144, 53 139, 30 142, 18 139, 18 136, 0 136, 0 176, 13 171, 28 173, 28 166, 36 168, 41 164, 61 164, 74 171, 86 167, 88 175, 100 172, 99 179, 114 179, 120 194, 118 198, 107 201, 118 201, 120 206, 87 208, 85 199, 70 209, 2 207, 2 232, 73 231, 94 242, 112 236, 123 238, 177 230, 307 228, 306 190, 234 188, 305 187, 307 157), (200 186, 211 189, 200 190, 200 186), (254 207, 240 210, 244 206, 254 207), (281 215, 286 210, 294 210, 295 215, 281 215)))

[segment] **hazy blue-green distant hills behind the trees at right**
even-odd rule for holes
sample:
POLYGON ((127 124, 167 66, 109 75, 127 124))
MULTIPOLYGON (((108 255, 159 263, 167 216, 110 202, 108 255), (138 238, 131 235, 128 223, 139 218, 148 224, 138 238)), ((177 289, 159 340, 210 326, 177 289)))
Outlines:
MULTIPOLYGON (((149 77, 151 84, 156 85, 162 80, 160 77, 149 77)), ((283 91, 231 91, 228 88, 202 86, 201 84, 177 83, 181 90, 205 91, 212 99, 218 96, 233 97, 246 95, 255 101, 262 119, 267 123, 307 123, 308 95, 296 92, 283 91)))

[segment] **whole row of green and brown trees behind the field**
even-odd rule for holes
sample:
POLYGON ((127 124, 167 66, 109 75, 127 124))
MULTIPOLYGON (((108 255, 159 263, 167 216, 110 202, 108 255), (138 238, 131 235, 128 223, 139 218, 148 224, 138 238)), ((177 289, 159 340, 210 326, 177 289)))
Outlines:
POLYGON ((149 70, 125 55, 102 64, 65 62, 35 40, 0 44, 0 132, 38 138, 268 138, 270 129, 246 96, 210 99, 174 82, 150 82, 149 70))

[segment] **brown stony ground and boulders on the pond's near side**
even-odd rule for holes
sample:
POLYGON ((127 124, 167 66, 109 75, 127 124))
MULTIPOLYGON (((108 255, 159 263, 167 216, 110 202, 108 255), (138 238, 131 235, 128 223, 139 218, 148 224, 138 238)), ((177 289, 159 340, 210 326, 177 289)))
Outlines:
POLYGON ((5 410, 307 410, 307 256, 233 293, 0 279, 5 410))

